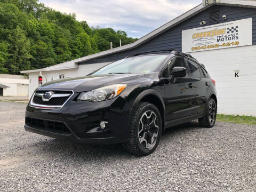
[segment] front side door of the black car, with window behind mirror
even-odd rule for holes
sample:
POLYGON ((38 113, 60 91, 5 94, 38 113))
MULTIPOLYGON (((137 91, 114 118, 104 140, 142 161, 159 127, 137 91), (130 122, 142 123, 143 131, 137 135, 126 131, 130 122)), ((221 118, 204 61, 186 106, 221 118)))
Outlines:
MULTIPOLYGON (((162 76, 171 77, 172 69, 174 67, 186 67, 186 62, 183 57, 174 57, 167 63, 163 69, 162 76)), ((181 117, 193 115, 195 94, 193 89, 193 82, 191 83, 188 77, 188 70, 186 70, 185 77, 172 77, 171 81, 165 83, 165 110, 166 120, 171 121, 181 117)))

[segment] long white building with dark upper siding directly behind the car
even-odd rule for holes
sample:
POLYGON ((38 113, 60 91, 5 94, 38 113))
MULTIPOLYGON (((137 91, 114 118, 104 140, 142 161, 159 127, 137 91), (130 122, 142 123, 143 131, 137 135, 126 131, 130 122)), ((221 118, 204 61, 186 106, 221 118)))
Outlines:
POLYGON ((128 55, 163 49, 189 53, 205 65, 217 83, 219 113, 256 116, 254 0, 203 0, 132 44, 21 73, 29 75, 31 97, 42 83, 84 76, 128 55))

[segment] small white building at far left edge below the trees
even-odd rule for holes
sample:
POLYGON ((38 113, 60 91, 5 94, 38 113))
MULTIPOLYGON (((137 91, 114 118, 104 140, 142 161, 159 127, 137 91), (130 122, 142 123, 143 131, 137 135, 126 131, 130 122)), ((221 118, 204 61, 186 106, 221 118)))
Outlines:
POLYGON ((0 96, 28 97, 28 79, 23 75, 0 74, 0 96))

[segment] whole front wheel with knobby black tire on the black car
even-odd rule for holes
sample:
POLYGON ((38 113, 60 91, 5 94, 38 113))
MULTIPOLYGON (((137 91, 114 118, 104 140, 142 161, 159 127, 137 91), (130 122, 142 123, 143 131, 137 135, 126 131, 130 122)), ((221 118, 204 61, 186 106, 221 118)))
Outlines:
POLYGON ((141 102, 134 111, 129 141, 124 148, 135 155, 149 155, 157 147, 162 135, 162 118, 157 107, 141 102))

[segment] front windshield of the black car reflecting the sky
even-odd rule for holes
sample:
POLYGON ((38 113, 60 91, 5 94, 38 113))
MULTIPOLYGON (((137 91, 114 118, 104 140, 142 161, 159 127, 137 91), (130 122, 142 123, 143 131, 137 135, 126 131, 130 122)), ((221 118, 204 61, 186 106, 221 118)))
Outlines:
POLYGON ((92 75, 102 74, 125 74, 125 73, 151 73, 153 72, 168 55, 143 55, 122 59, 110 63, 93 73, 92 75))

